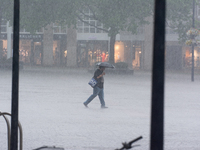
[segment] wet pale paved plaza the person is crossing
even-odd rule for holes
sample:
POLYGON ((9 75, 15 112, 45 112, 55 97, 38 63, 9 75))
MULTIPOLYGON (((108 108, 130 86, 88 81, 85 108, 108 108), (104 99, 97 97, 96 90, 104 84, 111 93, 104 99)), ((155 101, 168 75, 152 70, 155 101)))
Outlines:
MULTIPOLYGON (((0 70, 0 111, 11 111, 12 72, 0 70)), ((105 102, 87 84, 93 74, 85 69, 25 68, 19 77, 19 120, 23 149, 41 146, 65 150, 114 150, 122 142, 143 136, 135 150, 149 150, 151 73, 106 74, 105 102)), ((200 74, 166 73, 165 150, 199 150, 200 74)), ((7 149, 7 130, 0 118, 0 149, 7 149)))

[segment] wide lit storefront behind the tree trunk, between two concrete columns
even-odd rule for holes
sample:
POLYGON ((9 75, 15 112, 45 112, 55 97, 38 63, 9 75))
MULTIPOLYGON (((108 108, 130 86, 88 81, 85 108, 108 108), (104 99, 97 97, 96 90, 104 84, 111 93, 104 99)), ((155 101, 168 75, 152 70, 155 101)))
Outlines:
MULTIPOLYGON (((109 61, 109 41, 78 41, 77 64, 79 67, 94 66, 96 62, 109 61)), ((130 68, 140 68, 142 42, 116 41, 114 60, 126 62, 130 68)))

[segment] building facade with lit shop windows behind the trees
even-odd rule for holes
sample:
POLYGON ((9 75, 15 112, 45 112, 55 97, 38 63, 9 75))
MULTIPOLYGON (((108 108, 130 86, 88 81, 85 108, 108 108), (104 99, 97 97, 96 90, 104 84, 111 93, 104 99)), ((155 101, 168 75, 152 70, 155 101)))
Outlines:
MULTIPOLYGON (((90 12, 88 12, 90 13, 90 12)), ((130 68, 151 70, 153 18, 149 25, 139 27, 138 33, 120 32, 115 43, 115 62, 126 62, 130 68)), ((103 24, 90 20, 90 24, 102 27, 103 24)), ((12 57, 12 28, 2 21, 1 59, 12 57)), ((51 24, 32 35, 20 30, 20 61, 25 65, 91 67, 96 62, 109 60, 110 38, 107 33, 83 22, 77 29, 51 24)), ((200 68, 200 48, 195 47, 195 67, 200 68)), ((191 67, 191 47, 181 45, 178 35, 166 28, 166 69, 191 67)))

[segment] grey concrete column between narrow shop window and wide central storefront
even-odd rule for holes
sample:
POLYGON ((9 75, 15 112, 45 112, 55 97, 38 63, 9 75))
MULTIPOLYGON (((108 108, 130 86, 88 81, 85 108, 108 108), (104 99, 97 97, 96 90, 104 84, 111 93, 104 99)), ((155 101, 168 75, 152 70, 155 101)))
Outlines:
POLYGON ((76 67, 77 61, 77 32, 73 27, 67 30, 67 66, 76 67))

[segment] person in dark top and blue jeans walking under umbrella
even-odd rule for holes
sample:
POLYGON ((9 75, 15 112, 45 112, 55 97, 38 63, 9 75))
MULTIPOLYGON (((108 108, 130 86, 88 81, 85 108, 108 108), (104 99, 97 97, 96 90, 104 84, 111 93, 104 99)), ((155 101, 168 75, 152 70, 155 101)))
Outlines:
POLYGON ((93 88, 93 94, 83 103, 85 107, 88 107, 88 104, 98 95, 99 100, 101 103, 101 108, 108 108, 105 106, 105 101, 104 101, 104 78, 103 76, 105 75, 105 67, 104 66, 99 66, 99 68, 95 71, 94 73, 94 79, 97 81, 97 84, 93 88))

